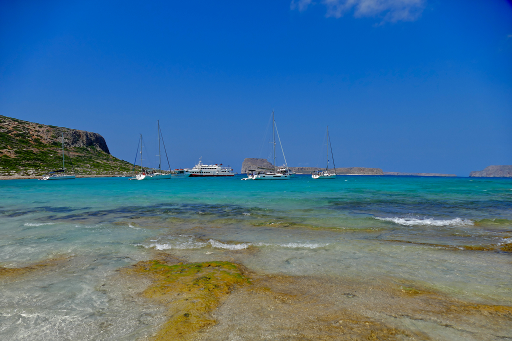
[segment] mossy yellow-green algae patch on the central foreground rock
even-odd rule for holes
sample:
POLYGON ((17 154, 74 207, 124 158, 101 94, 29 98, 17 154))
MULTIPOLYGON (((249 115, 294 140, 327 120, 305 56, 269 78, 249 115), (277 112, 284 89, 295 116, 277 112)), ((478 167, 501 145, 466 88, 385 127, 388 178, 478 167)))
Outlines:
POLYGON ((142 295, 167 307, 167 322, 154 340, 184 340, 191 333, 215 324, 210 312, 234 286, 249 284, 242 267, 230 262, 178 263, 141 261, 129 274, 150 276, 154 284, 142 295))

